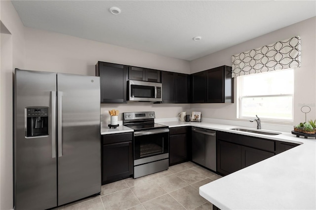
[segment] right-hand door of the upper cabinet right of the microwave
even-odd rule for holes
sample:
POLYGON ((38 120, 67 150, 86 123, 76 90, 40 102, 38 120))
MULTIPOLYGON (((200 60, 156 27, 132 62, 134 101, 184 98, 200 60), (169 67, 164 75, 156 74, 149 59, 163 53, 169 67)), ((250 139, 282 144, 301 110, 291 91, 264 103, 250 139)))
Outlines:
POLYGON ((174 73, 175 103, 189 103, 189 75, 174 73))

